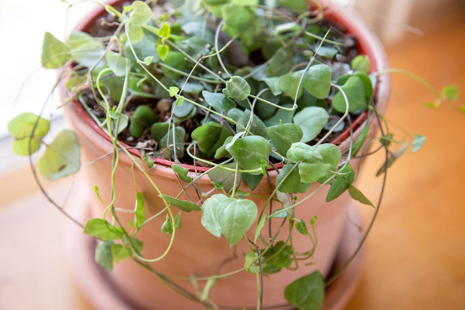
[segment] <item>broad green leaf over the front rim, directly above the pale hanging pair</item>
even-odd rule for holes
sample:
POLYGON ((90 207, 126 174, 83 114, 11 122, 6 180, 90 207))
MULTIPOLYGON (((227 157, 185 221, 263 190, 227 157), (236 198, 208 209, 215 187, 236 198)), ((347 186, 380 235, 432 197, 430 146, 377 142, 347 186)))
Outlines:
MULTIPOLYGON (((247 136, 237 139, 226 145, 226 150, 233 156, 244 170, 261 168, 261 161, 268 160, 271 152, 271 144, 260 136, 247 136)), ((260 174, 260 171, 249 172, 260 174)))

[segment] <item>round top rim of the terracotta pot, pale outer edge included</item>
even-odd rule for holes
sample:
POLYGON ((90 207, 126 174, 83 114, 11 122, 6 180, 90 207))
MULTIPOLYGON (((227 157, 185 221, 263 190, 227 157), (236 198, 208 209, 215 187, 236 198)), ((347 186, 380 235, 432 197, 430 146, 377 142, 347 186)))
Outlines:
MULTIPOLYGON (((116 5, 124 0, 110 0, 107 1, 109 5, 116 5)), ((336 6, 335 4, 331 3, 331 0, 324 0, 328 4, 328 8, 336 6)), ((104 14, 105 8, 98 7, 93 12, 89 13, 80 23, 73 29, 74 31, 86 31, 92 23, 99 18, 102 14, 104 14)), ((370 72, 377 72, 384 68, 388 67, 388 60, 387 55, 385 53, 384 47, 382 46, 381 42, 379 41, 378 37, 376 37, 364 24, 362 20, 359 19, 357 15, 354 13, 349 12, 342 12, 340 10, 334 10, 324 15, 325 19, 330 20, 336 24, 341 24, 345 28, 345 33, 352 34, 357 39, 357 45, 359 48, 360 54, 365 54, 370 59, 370 72)), ((390 74, 384 74, 378 77, 378 82, 373 90, 374 96, 377 99, 377 105, 380 112, 384 113, 387 107, 387 103, 389 101, 389 95, 391 90, 391 77, 390 74)), ((66 90, 67 92, 67 90, 66 90)), ((69 93, 69 92, 68 92, 69 93)), ((95 121, 90 117, 90 115, 85 111, 84 107, 80 104, 78 100, 73 100, 72 102, 74 110, 79 114, 82 120, 90 126, 93 131, 97 132, 101 137, 103 137, 108 143, 111 143, 110 137, 95 123, 95 121)), ((361 132, 360 129, 362 128, 361 124, 366 120, 367 111, 362 112, 353 122, 352 122, 352 132, 354 139, 356 139, 355 132, 357 129, 358 132, 361 132)), ((339 136, 336 137, 331 144, 338 145, 339 148, 343 148, 341 146, 348 145, 349 135, 350 135, 351 128, 347 128, 344 132, 342 132, 339 136)), ((128 152, 130 152, 133 156, 137 156, 140 158, 140 153, 135 150, 131 149, 129 145, 126 145, 122 141, 120 143, 127 148, 128 152)), ((173 162, 169 159, 157 158, 153 157, 151 160, 154 161, 154 164, 171 167, 173 162)), ((193 172, 205 172, 208 171, 209 167, 203 166, 193 166, 187 164, 180 164, 185 168, 188 168, 189 171, 193 172)), ((277 164, 275 165, 278 169, 282 168, 284 164, 277 164)), ((269 168, 268 171, 273 171, 273 168, 269 168)))

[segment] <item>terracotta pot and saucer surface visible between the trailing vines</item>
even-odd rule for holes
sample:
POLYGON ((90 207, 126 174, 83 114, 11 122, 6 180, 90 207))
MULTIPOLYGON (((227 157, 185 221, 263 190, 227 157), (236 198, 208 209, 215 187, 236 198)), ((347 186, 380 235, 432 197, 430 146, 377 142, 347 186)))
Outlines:
MULTIPOLYGON (((116 1, 117 2, 117 1, 116 1)), ((95 11, 87 17, 85 21, 78 27, 78 30, 85 31, 92 20, 95 20, 99 15, 103 14, 103 9, 95 11)), ((352 33, 357 37, 362 53, 367 54, 372 63, 372 68, 378 71, 387 67, 385 51, 380 45, 379 40, 365 27, 365 25, 355 16, 351 14, 342 14, 333 12, 330 18, 345 26, 348 33, 352 33)), ((387 106, 390 93, 390 77, 383 75, 379 78, 376 89, 376 102, 379 111, 384 112, 387 106)), ((73 130, 77 133, 81 149, 82 149, 82 167, 81 170, 85 173, 88 180, 86 193, 82 198, 82 207, 91 209, 93 218, 100 218, 103 212, 103 207, 93 195, 93 185, 97 185, 100 189, 100 194, 104 200, 110 197, 110 173, 111 173, 111 156, 104 157, 92 165, 85 165, 87 162, 101 157, 104 154, 113 152, 113 146, 109 142, 108 137, 96 126, 92 119, 86 114, 80 103, 74 102, 65 106, 65 115, 73 130), (100 130, 100 131, 99 131, 100 130)), ((363 116, 362 116, 363 119, 363 116)), ((359 122, 361 122, 359 120, 359 122)), ((372 128, 370 128, 368 139, 375 134, 375 119, 370 120, 372 128)), ((355 126, 354 126, 355 128, 355 126)), ((357 139, 363 126, 359 126, 354 130, 354 139, 357 139)), ((341 150, 347 149, 349 140, 344 139, 339 147, 341 150)), ((137 153, 135 153, 137 154, 137 153)), ((138 162, 141 160, 137 157, 138 162)), ((359 166, 359 161, 353 159, 351 162, 356 170, 359 166)), ((133 174, 131 170, 132 162, 128 156, 120 152, 120 162, 115 175, 116 200, 115 206, 132 210, 135 202, 135 192, 133 189, 133 174)), ((175 197, 180 190, 179 184, 173 173, 173 170, 166 166, 166 163, 156 164, 152 169, 148 170, 150 177, 164 194, 175 197), (164 165, 165 164, 165 165, 164 165)), ((189 172, 191 176, 195 176, 194 172, 189 172)), ((147 180, 147 178, 138 170, 134 169, 137 191, 143 193, 146 203, 147 217, 159 212, 164 208, 163 201, 157 196, 157 192, 147 180)), ((275 171, 270 171, 270 176, 273 184, 277 177, 275 171)), ((205 176, 196 182, 199 189, 209 191, 212 189, 210 179, 205 176)), ((318 185, 313 184, 310 191, 313 191, 318 185)), ((247 191, 248 187, 243 182, 240 189, 247 191)), ((313 198, 308 199, 305 203, 296 207, 296 217, 303 218, 308 221, 313 215, 318 216, 316 224, 316 232, 319 239, 318 247, 314 255, 315 265, 303 266, 300 265, 298 270, 282 270, 278 274, 273 274, 264 278, 264 306, 273 304, 281 304, 285 302, 284 289, 295 279, 311 273, 314 270, 319 270, 326 277, 332 267, 335 254, 339 247, 341 233, 345 223, 345 210, 349 204, 350 197, 347 194, 342 195, 338 199, 326 203, 326 193, 329 186, 320 190, 313 198)), ((250 190, 249 190, 250 191, 250 190)), ((193 188, 189 188, 187 193, 191 197, 197 197, 193 188)), ((258 187, 253 191, 254 195, 268 196, 270 189, 266 178, 263 178, 258 187)), ((306 197, 306 194, 299 194, 299 200, 306 197)), ((181 198, 186 198, 181 196, 181 198)), ((257 204, 259 210, 264 203, 263 199, 252 198, 257 204)), ((278 206, 273 205, 276 209, 278 206)), ((175 214, 177 209, 173 208, 175 214)), ((132 214, 120 213, 120 219, 124 225, 133 220, 132 214)), ((195 276, 211 276, 218 272, 217 266, 226 258, 233 254, 232 249, 226 243, 224 238, 217 238, 210 234, 200 223, 201 212, 182 213, 182 229, 176 231, 173 247, 164 259, 152 266, 155 270, 167 274, 188 277, 195 276)), ((146 258, 159 257, 168 246, 171 236, 162 234, 160 227, 165 221, 165 215, 153 219, 147 224, 138 234, 138 238, 144 242, 143 255, 146 258)), ((279 227, 279 219, 273 219, 272 231, 276 231, 279 227)), ((250 230, 248 236, 253 238, 254 226, 250 230)), ((267 227, 264 229, 267 234, 267 227)), ((279 240, 286 238, 288 227, 281 232, 279 240)), ((293 234, 293 243, 297 251, 308 251, 312 248, 309 238, 301 234, 293 234)), ((222 268, 219 272, 226 273, 237 270, 243 267, 243 254, 248 252, 245 242, 241 241, 237 245, 237 259, 233 260, 222 268)), ((126 299, 128 299, 135 307, 142 309, 203 309, 197 303, 193 303, 184 297, 179 296, 170 288, 166 287, 158 277, 141 268, 132 260, 128 259, 114 266, 111 273, 111 279, 120 290, 126 299)), ((176 280, 176 282, 194 292, 193 286, 189 281, 176 280)), ((204 283, 200 283, 203 286, 204 283)), ((252 306, 256 303, 256 283, 255 276, 240 272, 226 279, 220 279, 213 286, 210 297, 212 300, 222 306, 236 307, 242 309, 244 306, 252 306)))

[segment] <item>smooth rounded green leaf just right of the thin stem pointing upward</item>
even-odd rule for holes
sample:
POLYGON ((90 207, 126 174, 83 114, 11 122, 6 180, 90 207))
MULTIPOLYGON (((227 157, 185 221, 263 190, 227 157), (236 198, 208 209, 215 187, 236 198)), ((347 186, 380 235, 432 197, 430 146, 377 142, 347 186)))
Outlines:
MULTIPOLYGON (((298 71, 299 79, 303 71, 298 71)), ((331 90, 332 69, 325 64, 318 64, 308 68, 307 73, 302 80, 302 86, 318 99, 328 97, 331 90)))

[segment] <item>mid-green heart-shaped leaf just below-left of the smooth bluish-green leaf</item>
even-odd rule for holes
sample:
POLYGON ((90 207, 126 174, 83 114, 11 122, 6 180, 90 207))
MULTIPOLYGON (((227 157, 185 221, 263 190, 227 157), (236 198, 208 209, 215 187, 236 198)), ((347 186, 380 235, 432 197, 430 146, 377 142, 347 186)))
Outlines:
POLYGON ((292 143, 299 142, 304 135, 302 129, 295 124, 275 125, 266 128, 266 130, 276 151, 282 155, 287 153, 292 143))

